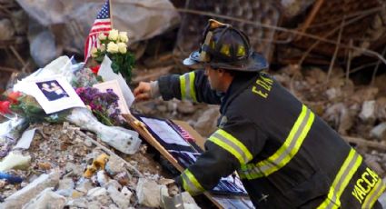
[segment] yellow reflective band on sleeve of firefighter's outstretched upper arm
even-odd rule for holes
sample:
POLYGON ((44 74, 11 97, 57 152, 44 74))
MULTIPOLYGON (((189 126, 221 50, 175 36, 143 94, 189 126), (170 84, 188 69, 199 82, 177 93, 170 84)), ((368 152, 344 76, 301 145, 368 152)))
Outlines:
POLYGON ((180 76, 181 99, 197 102, 194 90, 194 72, 187 73, 180 76))

